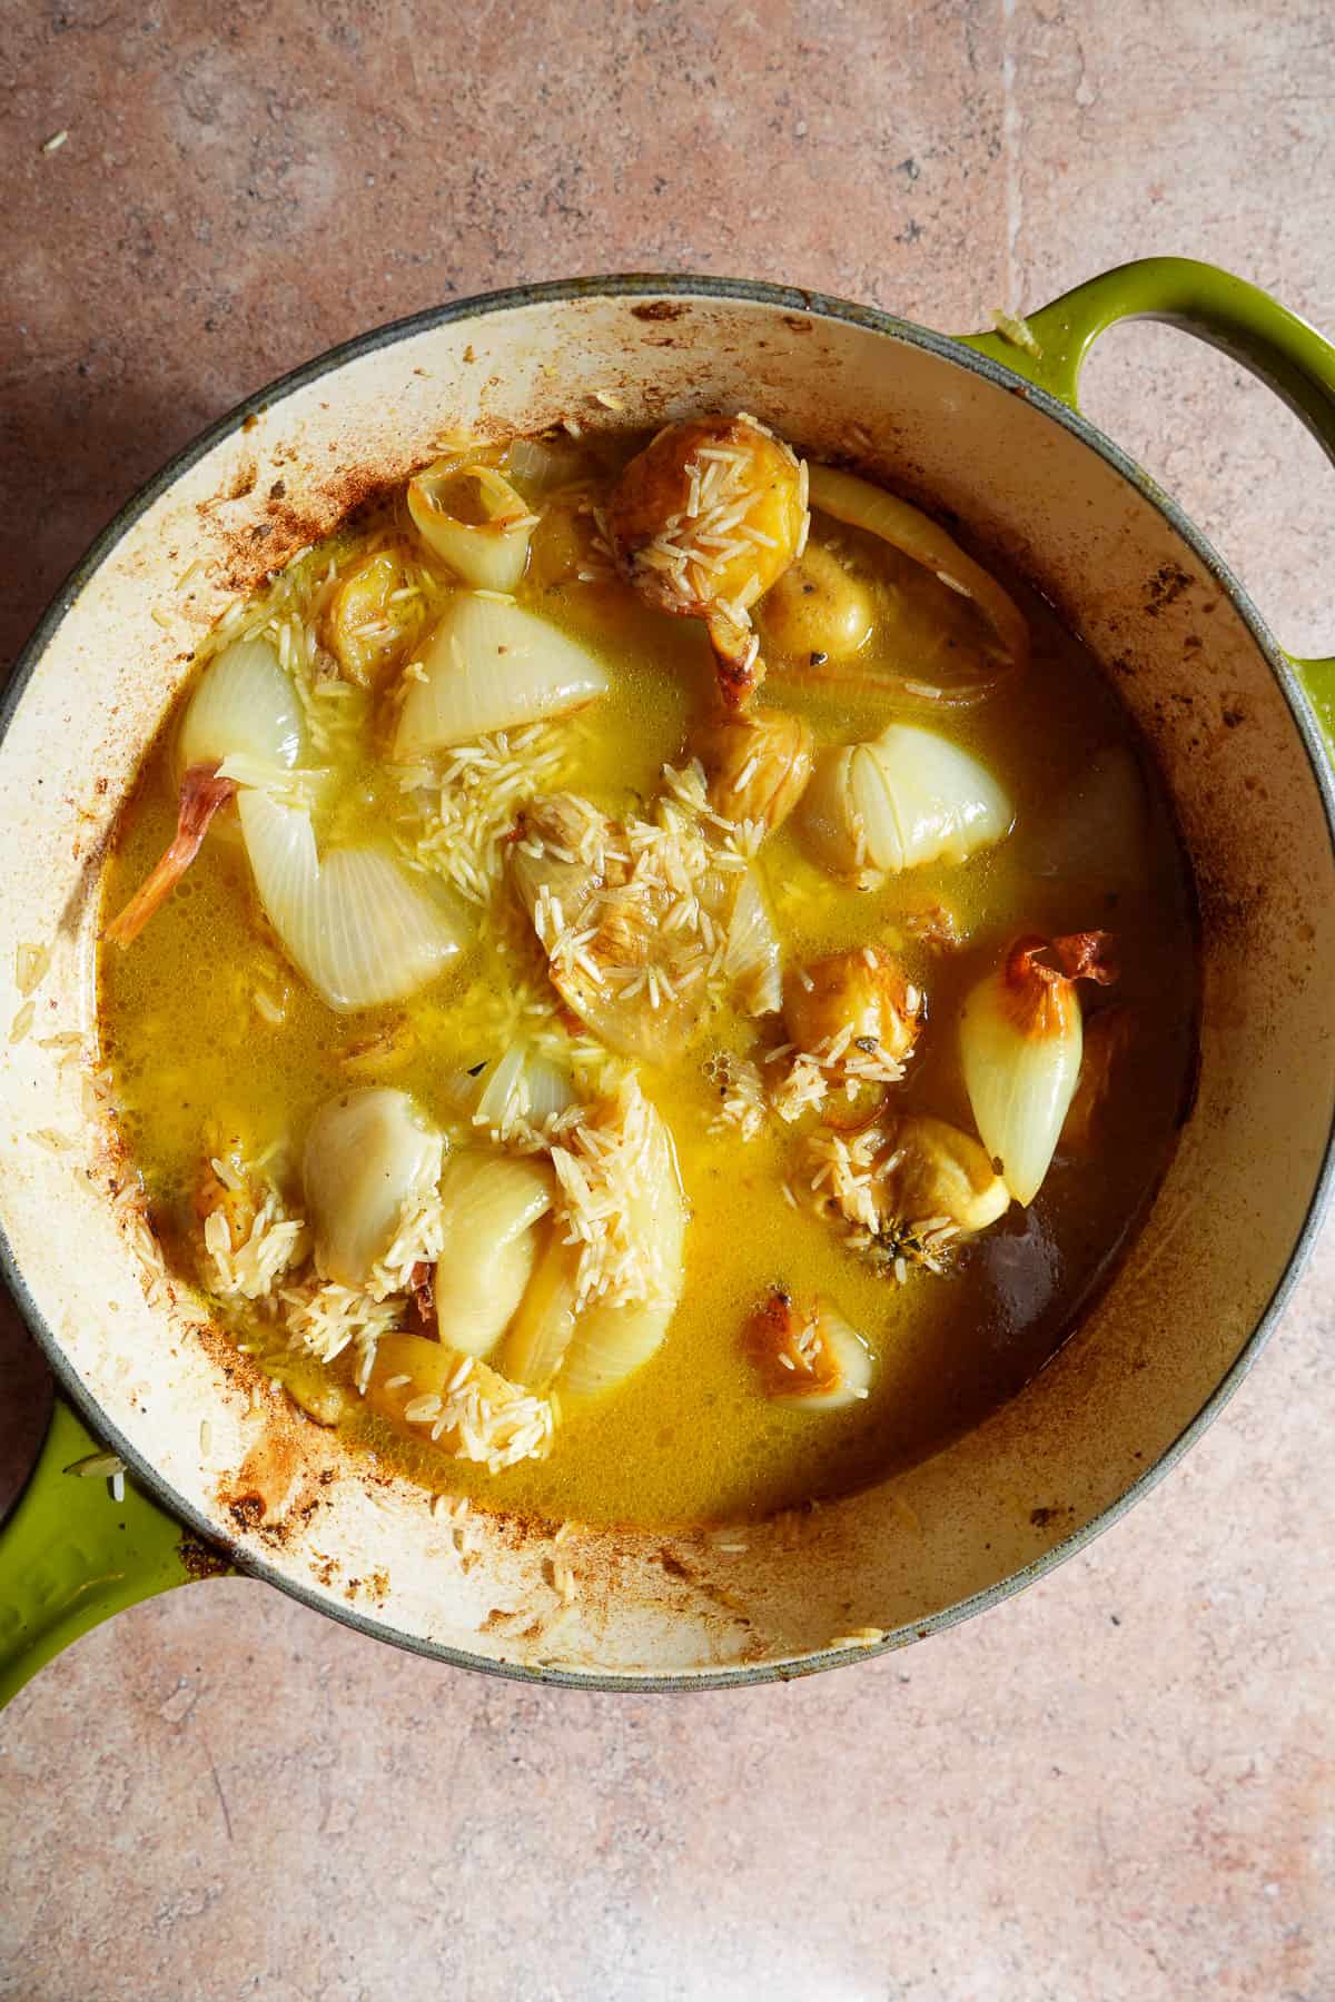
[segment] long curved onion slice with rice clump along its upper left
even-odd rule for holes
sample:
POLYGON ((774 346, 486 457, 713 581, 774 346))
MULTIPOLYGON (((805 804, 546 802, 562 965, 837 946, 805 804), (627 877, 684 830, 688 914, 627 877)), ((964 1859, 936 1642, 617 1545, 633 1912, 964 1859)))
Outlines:
POLYGON ((652 1271, 646 1297, 626 1303, 604 1299, 574 1323, 558 1375, 562 1403, 600 1397, 656 1353, 685 1285, 687 1207, 681 1193, 677 1149, 662 1115, 644 1101, 646 1137, 638 1159, 638 1189, 628 1199, 630 1235, 652 1271))

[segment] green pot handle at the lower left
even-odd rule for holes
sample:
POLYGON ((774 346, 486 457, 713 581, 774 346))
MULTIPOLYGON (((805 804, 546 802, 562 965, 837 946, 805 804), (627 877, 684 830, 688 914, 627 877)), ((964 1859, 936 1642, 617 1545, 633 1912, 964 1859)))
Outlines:
POLYGON ((94 1455, 108 1457, 58 1395, 28 1485, 0 1528, 0 1708, 88 1628, 228 1570, 128 1475, 116 1501, 94 1455), (88 1459, 94 1471, 70 1471, 88 1459))

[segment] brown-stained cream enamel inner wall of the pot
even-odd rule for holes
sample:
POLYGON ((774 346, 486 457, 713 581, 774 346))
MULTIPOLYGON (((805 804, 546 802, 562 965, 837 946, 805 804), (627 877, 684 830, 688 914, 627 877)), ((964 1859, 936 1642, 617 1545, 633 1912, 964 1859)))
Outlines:
POLYGON ((1153 1467, 1245 1347, 1303 1231, 1335 1103, 1321 793, 1247 623, 1151 496, 1027 394, 909 338, 747 298, 644 306, 596 292, 506 304, 408 328, 276 394, 110 551, 0 745, 4 1019, 20 1007, 16 945, 56 937, 36 1025, 0 1083, 0 1219, 86 1393, 192 1514, 330 1610, 484 1662, 626 1678, 799 1664, 863 1628, 913 1630, 1083 1530, 1153 1467), (608 392, 616 412, 598 402, 608 392), (1109 663, 1197 869, 1199 1095, 1099 1307, 967 1439, 821 1510, 801 1536, 576 1532, 552 1550, 474 1516, 480 1562, 462 1572, 452 1526, 416 1487, 380 1477, 282 1399, 252 1401, 186 1297, 146 1305, 78 1073, 38 1039, 92 1029, 100 843, 228 575, 244 583, 306 523, 328 527, 366 478, 402 476, 452 430, 733 406, 815 454, 853 448, 865 470, 955 511, 1109 663), (859 426, 871 446, 853 442, 859 426), (210 561, 216 575, 186 601, 178 579, 210 561), (70 1147, 32 1141, 42 1129, 70 1147), (258 1510, 232 1506, 246 1495, 258 1510), (576 1578, 570 1608, 552 1560, 576 1578))

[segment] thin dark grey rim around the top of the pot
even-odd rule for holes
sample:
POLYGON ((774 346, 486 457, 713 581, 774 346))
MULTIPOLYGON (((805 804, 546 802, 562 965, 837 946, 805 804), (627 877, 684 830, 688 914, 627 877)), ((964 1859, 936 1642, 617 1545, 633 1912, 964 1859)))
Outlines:
MULTIPOLYGON (((1097 452, 1115 472, 1137 488, 1137 492, 1155 507, 1169 527, 1187 543, 1199 563, 1209 571, 1219 589, 1229 597, 1235 611, 1241 615, 1243 625, 1251 633, 1259 653, 1263 655, 1279 691, 1285 699, 1293 725, 1301 737, 1311 773, 1321 797, 1325 811, 1327 835, 1331 839, 1331 857, 1335 861, 1335 773, 1327 761, 1323 747, 1323 737, 1315 713, 1311 711, 1307 697, 1303 695, 1287 655, 1279 647, 1277 639, 1269 631, 1265 619, 1257 611, 1253 599, 1233 575, 1229 565, 1219 557, 1219 553, 1209 545, 1205 535, 1195 527, 1195 523, 1185 515, 1185 511, 1167 494, 1163 488, 1137 466, 1123 450, 1091 424, 1087 416, 1067 404, 1061 398, 1049 394, 1049 390, 1027 382, 1021 374, 1005 368, 1001 362, 987 354, 979 354, 975 348, 963 344, 951 334, 939 334, 935 328, 921 326, 915 320, 899 318, 893 312, 885 312, 879 306, 859 306, 853 300, 839 298, 827 292, 813 292, 805 286, 783 286, 771 284, 761 278, 715 278, 715 276, 693 276, 691 272, 612 272, 606 276, 586 276, 586 278, 554 278, 540 284, 518 284, 506 286, 492 292, 478 292, 468 298, 456 298, 440 306, 426 306, 420 312, 406 314, 404 318, 386 320, 368 332, 354 334, 350 340, 342 340, 312 360, 288 370, 286 374, 274 378, 264 388, 246 396, 216 422, 208 424, 198 436, 174 452, 166 464, 154 472, 112 517, 112 521, 102 529, 102 533, 92 541, 84 557, 68 573, 60 589, 54 593, 50 605, 38 619, 32 637, 18 651, 14 669, 8 677, 4 695, 0 697, 0 743, 8 735, 10 723, 24 699, 26 687, 36 673, 38 661, 46 653, 56 631, 70 613, 74 601, 92 583, 96 573, 102 569, 110 553, 126 537, 126 533, 162 498, 176 480, 200 462, 216 444, 224 438, 234 436, 242 430, 246 418, 266 410, 270 404, 288 396, 292 390, 306 388, 342 368, 346 362, 360 360, 364 354, 374 354, 378 348, 388 348, 414 334, 430 332, 438 326, 450 326, 458 320, 484 318, 492 312, 506 312, 516 306, 536 306, 536 304, 566 304, 580 298, 640 298, 640 296, 685 296, 685 298, 721 298, 721 300, 743 300, 747 304, 773 306, 787 312, 805 312, 815 318, 839 320, 851 326, 863 326, 869 332, 883 334, 891 340, 901 340, 909 346, 925 348, 939 360, 953 362, 957 368, 971 370, 993 382, 997 388, 1011 390, 1013 394, 1025 396, 1037 410, 1041 410, 1049 420, 1061 424, 1075 438, 1079 438, 1089 450, 1097 452)), ((572 1670, 544 1670, 544 1668, 524 1668, 514 1662, 498 1662, 488 1656, 476 1656, 462 1648, 440 1646, 430 1640, 422 1640, 412 1634, 404 1634, 390 1622, 380 1620, 372 1614, 358 1612, 354 1608, 342 1608, 320 1598, 310 1586, 300 1580, 292 1580, 272 1568, 264 1558, 254 1556, 248 1550, 236 1550, 234 1544, 218 1534, 218 1526, 204 1516, 200 1510, 184 1501, 152 1461, 146 1461, 142 1453, 122 1437, 118 1427, 114 1427, 98 1401, 84 1389, 72 1363, 68 1361, 60 1341, 48 1327, 36 1299, 28 1291, 22 1269, 10 1247, 4 1221, 0 1219, 0 1281, 10 1293, 10 1299, 18 1307, 28 1331, 42 1349, 58 1389, 68 1397, 76 1411, 88 1421, 94 1433, 124 1459, 126 1469, 134 1473, 136 1481, 148 1491, 148 1495, 182 1528, 192 1530, 196 1536, 204 1538, 212 1546, 222 1546, 236 1560, 238 1570, 246 1576, 262 1580, 284 1592, 288 1598, 312 1612, 324 1614, 330 1620, 338 1620, 342 1626, 354 1628, 372 1640, 390 1642, 396 1648, 404 1648, 410 1654, 428 1656, 436 1662, 446 1662, 450 1668, 468 1668, 488 1676, 500 1676, 508 1682, 526 1684, 550 1684, 556 1688, 574 1690, 608 1690, 608 1692, 628 1692, 628 1694, 658 1694, 658 1692, 685 1692, 685 1690, 723 1690, 723 1688, 753 1688, 765 1682, 791 1682, 797 1676, 813 1676, 821 1670, 839 1668, 851 1662, 861 1662, 875 1658, 879 1654, 889 1654, 897 1648, 905 1648, 915 1640, 927 1640, 933 1634, 941 1634, 947 1628, 969 1620, 973 1614, 987 1612, 1009 1600, 1013 1594, 1023 1592, 1027 1586, 1037 1584, 1067 1558, 1077 1556, 1085 1550, 1097 1536, 1119 1522, 1137 1501, 1141 1501, 1159 1481, 1179 1463, 1179 1459, 1189 1451, 1191 1445, 1201 1437, 1201 1433, 1215 1421, 1215 1417, 1229 1403, 1237 1391, 1243 1377, 1253 1367, 1257 1355, 1269 1341, 1275 1325, 1289 1303, 1289 1297, 1311 1257, 1317 1231, 1331 1203, 1331 1193, 1335 1191, 1335 1105, 1331 1107, 1331 1127, 1327 1129, 1325 1153, 1321 1159, 1321 1169, 1313 1187, 1311 1203, 1303 1217, 1303 1227, 1295 1239, 1279 1281, 1257 1317, 1257 1325, 1243 1343, 1239 1355, 1227 1373, 1219 1379, 1211 1395, 1199 1407, 1193 1419, 1177 1433, 1177 1437, 1163 1449, 1159 1459, 1147 1467, 1137 1479, 1105 1510, 1101 1510, 1091 1522, 1071 1536, 1063 1538, 1043 1556, 1035 1558, 1031 1564, 1023 1566, 1019 1572, 1011 1572, 1007 1578, 997 1580, 997 1584, 987 1586, 983 1592, 975 1592, 953 1606, 931 1614, 927 1620, 913 1622, 909 1626, 893 1628, 875 1646, 859 1648, 833 1648, 819 1650, 815 1654, 805 1654, 793 1662, 759 1662, 739 1668, 721 1670, 701 1670, 701 1672, 679 1672, 679 1674, 580 1674, 572 1670)), ((0 1534, 4 1524, 0 1524, 0 1534)))

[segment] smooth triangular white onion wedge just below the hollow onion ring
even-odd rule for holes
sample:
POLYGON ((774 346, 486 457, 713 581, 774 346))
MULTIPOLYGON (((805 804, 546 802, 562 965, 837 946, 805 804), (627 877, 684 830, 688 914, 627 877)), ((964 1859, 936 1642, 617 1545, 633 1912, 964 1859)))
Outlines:
POLYGON ((410 681, 394 733, 394 763, 470 743, 544 717, 564 717, 606 693, 606 669, 518 605, 458 593, 410 681))

